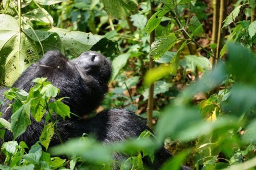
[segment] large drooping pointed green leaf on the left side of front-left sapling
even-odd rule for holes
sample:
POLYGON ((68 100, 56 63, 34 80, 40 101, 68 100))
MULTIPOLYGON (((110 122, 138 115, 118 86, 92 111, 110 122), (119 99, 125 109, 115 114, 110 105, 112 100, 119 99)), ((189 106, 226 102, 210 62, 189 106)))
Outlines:
POLYGON ((12 114, 11 124, 14 139, 26 131, 28 125, 31 125, 30 103, 24 104, 12 114))

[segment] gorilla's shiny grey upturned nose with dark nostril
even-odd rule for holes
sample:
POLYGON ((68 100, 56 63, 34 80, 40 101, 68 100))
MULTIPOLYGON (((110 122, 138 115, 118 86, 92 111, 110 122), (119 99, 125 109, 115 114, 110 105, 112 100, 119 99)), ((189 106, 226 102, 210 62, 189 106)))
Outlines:
POLYGON ((82 63, 88 66, 100 66, 104 61, 104 57, 101 54, 91 51, 82 53, 79 58, 82 63))

